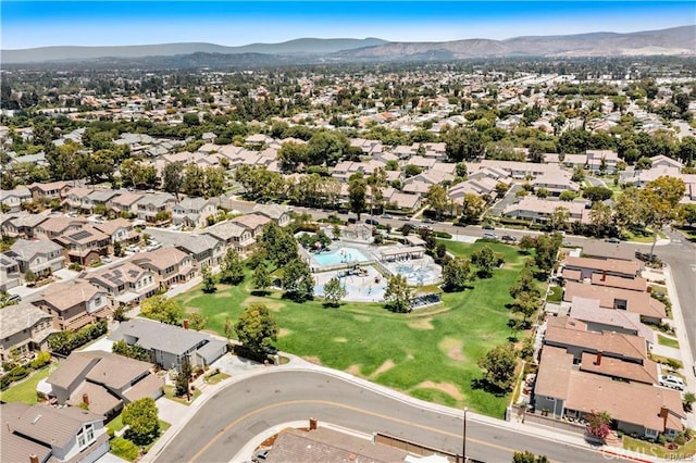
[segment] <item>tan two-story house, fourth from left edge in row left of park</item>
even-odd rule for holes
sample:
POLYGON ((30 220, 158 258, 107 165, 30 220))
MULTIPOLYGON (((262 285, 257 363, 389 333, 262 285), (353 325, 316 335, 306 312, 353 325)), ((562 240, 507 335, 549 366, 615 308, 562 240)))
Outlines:
POLYGON ((186 252, 173 247, 140 252, 132 259, 132 262, 152 272, 162 288, 186 283, 196 274, 194 259, 186 252))

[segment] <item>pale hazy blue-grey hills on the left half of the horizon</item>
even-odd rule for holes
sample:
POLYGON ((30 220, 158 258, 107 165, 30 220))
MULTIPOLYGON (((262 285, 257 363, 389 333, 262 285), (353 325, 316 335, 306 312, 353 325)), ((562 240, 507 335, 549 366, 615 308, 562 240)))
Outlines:
POLYGON ((334 53, 341 50, 374 47, 387 43, 378 38, 365 39, 318 39, 300 38, 282 43, 251 43, 241 47, 224 47, 215 43, 161 43, 137 45, 123 47, 40 47, 22 50, 2 50, 3 63, 32 63, 42 61, 84 61, 100 58, 145 58, 145 57, 175 57, 192 53, 221 54, 318 54, 334 53))

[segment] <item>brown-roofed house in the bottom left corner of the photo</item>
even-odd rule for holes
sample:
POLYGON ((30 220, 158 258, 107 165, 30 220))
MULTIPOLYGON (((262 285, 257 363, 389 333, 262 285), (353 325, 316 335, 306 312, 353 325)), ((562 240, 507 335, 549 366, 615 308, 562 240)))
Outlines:
POLYGON ((77 406, 0 405, 3 462, 94 463, 109 451, 104 416, 77 406))

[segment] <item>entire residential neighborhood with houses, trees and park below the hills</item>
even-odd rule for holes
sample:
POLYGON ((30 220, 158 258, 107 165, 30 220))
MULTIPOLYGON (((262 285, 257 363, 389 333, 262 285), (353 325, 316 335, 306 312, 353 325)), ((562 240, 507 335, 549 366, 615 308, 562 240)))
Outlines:
POLYGON ((693 458, 693 57, 423 57, 3 66, 0 460, 693 458))

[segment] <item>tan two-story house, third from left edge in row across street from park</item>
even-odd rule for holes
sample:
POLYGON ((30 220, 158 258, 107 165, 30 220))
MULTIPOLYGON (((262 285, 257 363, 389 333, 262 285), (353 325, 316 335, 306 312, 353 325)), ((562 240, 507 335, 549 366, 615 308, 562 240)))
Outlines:
POLYGON ((114 304, 138 304, 160 289, 152 272, 132 262, 97 272, 83 272, 80 278, 105 291, 114 304))

